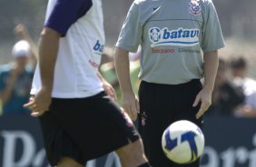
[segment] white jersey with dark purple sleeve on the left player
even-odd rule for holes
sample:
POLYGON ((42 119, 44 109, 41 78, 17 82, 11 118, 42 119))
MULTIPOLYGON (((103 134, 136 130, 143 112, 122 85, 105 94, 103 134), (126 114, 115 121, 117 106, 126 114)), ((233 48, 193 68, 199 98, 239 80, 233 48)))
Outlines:
MULTIPOLYGON (((97 76, 104 44, 100 0, 49 0, 45 27, 61 33, 52 97, 81 98, 103 91, 97 76)), ((41 88, 37 65, 31 93, 41 88)))

